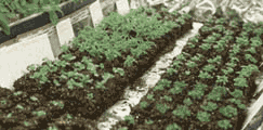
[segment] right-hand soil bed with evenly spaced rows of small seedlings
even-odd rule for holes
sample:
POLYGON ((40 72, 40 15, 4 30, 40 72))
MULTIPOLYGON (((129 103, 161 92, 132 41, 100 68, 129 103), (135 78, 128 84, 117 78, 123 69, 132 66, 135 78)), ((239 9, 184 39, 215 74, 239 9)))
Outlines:
POLYGON ((222 15, 205 23, 111 130, 240 130, 263 70, 262 32, 262 25, 222 15))

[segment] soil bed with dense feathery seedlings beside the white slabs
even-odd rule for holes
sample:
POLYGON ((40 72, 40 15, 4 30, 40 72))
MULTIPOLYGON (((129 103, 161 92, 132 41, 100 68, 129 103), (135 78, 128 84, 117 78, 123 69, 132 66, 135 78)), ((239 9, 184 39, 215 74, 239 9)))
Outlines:
POLYGON ((126 87, 193 28, 187 14, 143 8, 131 12, 124 17, 113 13, 96 28, 86 27, 74 39, 73 48, 62 48, 60 61, 47 61, 37 68, 28 66, 30 73, 14 82, 14 91, 1 89, 6 94, 1 94, 0 126, 95 129, 95 120, 120 100, 126 87), (94 37, 87 39, 91 35, 94 37))

